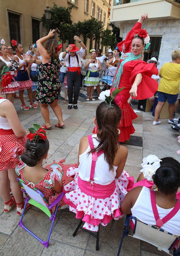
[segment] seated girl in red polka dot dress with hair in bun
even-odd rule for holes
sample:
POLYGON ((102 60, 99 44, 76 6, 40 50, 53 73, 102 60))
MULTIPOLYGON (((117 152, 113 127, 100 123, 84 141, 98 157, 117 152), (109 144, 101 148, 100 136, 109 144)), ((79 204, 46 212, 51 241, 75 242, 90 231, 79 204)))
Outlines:
MULTIPOLYGON (((64 159, 59 163, 54 162, 43 168, 42 162, 47 158, 49 141, 42 128, 36 131, 36 134, 35 136, 33 133, 27 135, 26 151, 21 155, 22 162, 21 165, 16 167, 16 173, 17 175, 21 175, 21 179, 27 184, 30 184, 31 187, 39 189, 50 205, 61 194, 63 185, 72 181, 74 177, 66 176, 66 168, 64 168, 66 165, 62 164, 65 161, 64 159), (37 141, 36 134, 42 135, 43 139, 37 141)), ((77 165, 69 165, 68 168, 71 166, 77 165)), ((66 204, 61 199, 59 207, 64 205, 66 204)), ((52 208, 52 211, 55 211, 55 206, 52 208)))

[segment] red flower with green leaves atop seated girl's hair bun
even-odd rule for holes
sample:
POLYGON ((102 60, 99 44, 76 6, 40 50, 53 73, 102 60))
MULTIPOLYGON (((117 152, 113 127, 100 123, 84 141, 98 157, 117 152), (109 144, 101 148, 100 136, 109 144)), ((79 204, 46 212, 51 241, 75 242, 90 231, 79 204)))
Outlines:
POLYGON ((33 127, 29 128, 29 134, 27 135, 27 138, 30 139, 30 141, 36 141, 47 139, 46 132, 40 127, 39 124, 33 123, 33 127))

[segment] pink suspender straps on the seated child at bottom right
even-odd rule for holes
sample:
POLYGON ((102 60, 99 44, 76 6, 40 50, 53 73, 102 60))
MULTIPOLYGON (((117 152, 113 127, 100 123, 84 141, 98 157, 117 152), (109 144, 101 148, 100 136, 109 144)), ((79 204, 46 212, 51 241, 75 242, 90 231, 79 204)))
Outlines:
POLYGON ((153 190, 150 190, 150 197, 151 197, 152 211, 154 214, 154 218, 156 220, 156 225, 158 227, 162 227, 168 220, 173 218, 175 214, 179 211, 180 201, 177 201, 175 207, 164 218, 160 219, 158 209, 156 206, 155 192, 153 190))

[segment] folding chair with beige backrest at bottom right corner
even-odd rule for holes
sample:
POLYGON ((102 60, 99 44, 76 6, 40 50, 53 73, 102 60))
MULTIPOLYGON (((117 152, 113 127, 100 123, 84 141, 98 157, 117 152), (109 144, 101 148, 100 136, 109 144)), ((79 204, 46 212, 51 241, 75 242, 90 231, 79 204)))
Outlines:
MULTIPOLYGON (((130 216, 130 214, 126 215, 126 220, 124 224, 124 230, 121 237, 121 242, 119 245, 119 250, 117 256, 119 256, 121 251, 121 246, 123 243, 123 239, 125 236, 131 236, 147 243, 150 243, 156 247, 158 250, 165 251, 169 255, 169 251, 172 249, 173 245, 176 245, 177 240, 180 239, 180 236, 175 236, 171 233, 164 231, 162 228, 158 229, 156 226, 148 225, 144 222, 141 222, 136 217, 130 216), (135 227, 133 230, 133 236, 129 235, 129 226, 130 221, 135 220, 135 227)), ((173 249, 173 256, 180 255, 180 248, 173 249)))

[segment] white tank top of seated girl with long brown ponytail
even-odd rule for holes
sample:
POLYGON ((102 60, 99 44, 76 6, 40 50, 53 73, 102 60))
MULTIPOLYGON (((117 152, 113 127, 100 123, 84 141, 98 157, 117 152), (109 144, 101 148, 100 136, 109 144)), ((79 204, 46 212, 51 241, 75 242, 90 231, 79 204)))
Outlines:
MULTIPOLYGON (((93 134, 93 143, 94 146, 98 146, 99 142, 96 141, 97 134, 93 134)), ((92 163, 92 154, 88 154, 90 151, 90 146, 86 149, 84 153, 79 156, 79 177, 84 181, 90 181, 90 172, 91 172, 91 163, 92 163)), ((98 157, 95 166, 94 172, 94 183, 100 185, 110 184, 116 176, 117 166, 114 166, 114 171, 109 170, 109 165, 104 160, 104 153, 98 157)))

